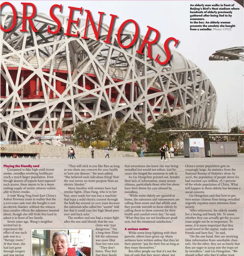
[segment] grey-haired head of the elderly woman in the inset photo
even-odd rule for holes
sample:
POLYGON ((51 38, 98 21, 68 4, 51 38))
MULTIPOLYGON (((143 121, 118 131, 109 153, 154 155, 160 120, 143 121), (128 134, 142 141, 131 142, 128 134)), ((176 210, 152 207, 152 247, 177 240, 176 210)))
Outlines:
POLYGON ((58 231, 52 235, 54 256, 67 256, 69 244, 69 235, 66 232, 58 231))

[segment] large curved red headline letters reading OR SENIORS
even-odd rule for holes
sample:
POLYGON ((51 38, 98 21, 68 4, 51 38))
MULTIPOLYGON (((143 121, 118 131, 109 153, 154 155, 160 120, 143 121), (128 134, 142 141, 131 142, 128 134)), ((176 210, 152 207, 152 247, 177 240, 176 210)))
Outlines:
MULTIPOLYGON (((29 26, 31 27, 31 29, 37 33, 38 30, 35 28, 34 26, 34 23, 32 21, 32 19, 36 16, 37 14, 37 11, 36 11, 36 7, 33 3, 21 3, 23 4, 23 24, 22 24, 22 29, 20 30, 21 32, 28 32, 27 30, 27 21, 29 22, 29 26), (29 13, 27 13, 27 7, 32 7, 32 14, 28 15, 29 13)), ((9 6, 11 7, 12 9, 12 12, 13 12, 13 18, 12 18, 12 24, 10 26, 10 24, 8 25, 8 27, 3 27, 2 24, 1 24, 1 30, 4 31, 4 32, 9 32, 11 31, 15 25, 16 25, 16 22, 17 22, 17 12, 13 6, 13 4, 9 3, 9 2, 3 2, 1 4, 1 10, 4 6, 9 6)), ((56 15, 54 14, 54 9, 58 9, 59 12, 61 13, 62 12, 62 4, 54 4, 51 8, 50 8, 50 17, 53 19, 54 22, 56 22, 57 25, 55 25, 55 30, 51 30, 51 26, 48 25, 48 32, 47 33, 50 33, 50 34, 57 34, 60 32, 60 29, 61 29, 61 22, 60 20, 56 17, 56 15)), ((80 14, 82 14, 82 11, 83 11, 83 8, 80 7, 80 8, 77 8, 77 7, 72 7, 72 6, 69 6, 69 9, 70 9, 70 13, 69 13, 69 20, 68 20, 68 25, 67 25, 67 30, 66 32, 64 33, 64 35, 67 35, 67 36, 75 36, 75 37, 79 37, 79 32, 77 31, 76 33, 72 33, 71 32, 71 27, 73 27, 74 25, 76 25, 76 27, 78 26, 79 24, 79 18, 77 18, 76 20, 73 20, 73 14, 74 14, 74 11, 79 11, 80 14)), ((81 36, 81 38, 83 39, 88 39, 86 34, 87 34, 87 26, 88 26, 88 22, 90 22, 91 24, 91 27, 93 28, 93 31, 94 31, 94 34, 95 34, 95 37, 96 37, 96 40, 98 41, 99 40, 99 32, 100 32, 100 27, 101 27, 101 20, 102 20, 102 15, 105 14, 104 12, 98 12, 100 14, 100 19, 99 19, 99 23, 98 23, 98 29, 96 29, 96 26, 95 26, 95 23, 94 23, 94 20, 93 20, 93 17, 91 15, 91 12, 89 10, 84 10, 86 13, 87 13, 87 17, 86 17, 86 25, 85 25, 85 31, 84 31, 84 35, 81 36)), ((115 22, 115 19, 118 18, 117 15, 114 15, 114 14, 110 14, 111 16, 111 22, 110 22, 110 26, 109 26, 109 30, 108 30, 108 34, 107 34, 107 39, 104 40, 103 42, 107 43, 107 44, 111 44, 111 34, 112 34, 112 28, 114 26, 114 22, 115 22)), ((160 36, 160 33, 157 29, 154 29, 150 26, 147 26, 148 30, 147 30, 147 33, 146 33, 146 36, 142 42, 142 44, 140 45, 139 47, 139 50, 137 50, 136 52, 143 55, 143 50, 144 50, 144 47, 145 45, 147 44, 148 45, 148 57, 150 59, 153 59, 153 57, 151 56, 151 45, 153 44, 156 44, 159 40, 159 36, 160 36), (155 32, 156 33, 156 36, 155 36, 155 39, 153 40, 149 40, 149 36, 151 34, 151 32, 155 32)), ((123 49, 127 49, 127 48, 130 48, 133 46, 133 44, 137 41, 137 38, 139 36, 139 26, 138 24, 136 23, 136 21, 132 20, 132 19, 129 19, 129 20, 126 20, 124 21, 121 26, 119 27, 119 30, 117 32, 117 40, 118 40, 118 43, 119 45, 121 46, 121 48, 123 49), (132 39, 132 41, 127 44, 127 45, 123 45, 121 43, 121 35, 123 34, 122 31, 123 29, 125 28, 125 26, 129 23, 133 23, 135 25, 135 34, 134 34, 134 38, 132 39)), ((169 62, 170 60, 170 50, 169 50, 169 47, 168 47, 168 43, 170 41, 174 41, 175 44, 174 46, 176 46, 179 42, 179 40, 173 38, 173 37, 170 37, 168 38, 165 42, 164 42, 164 50, 165 50, 165 53, 166 53, 166 60, 164 61, 160 61, 159 58, 160 58, 160 55, 158 54, 155 58, 154 61, 156 61, 157 63, 159 63, 160 65, 165 65, 169 62)))

